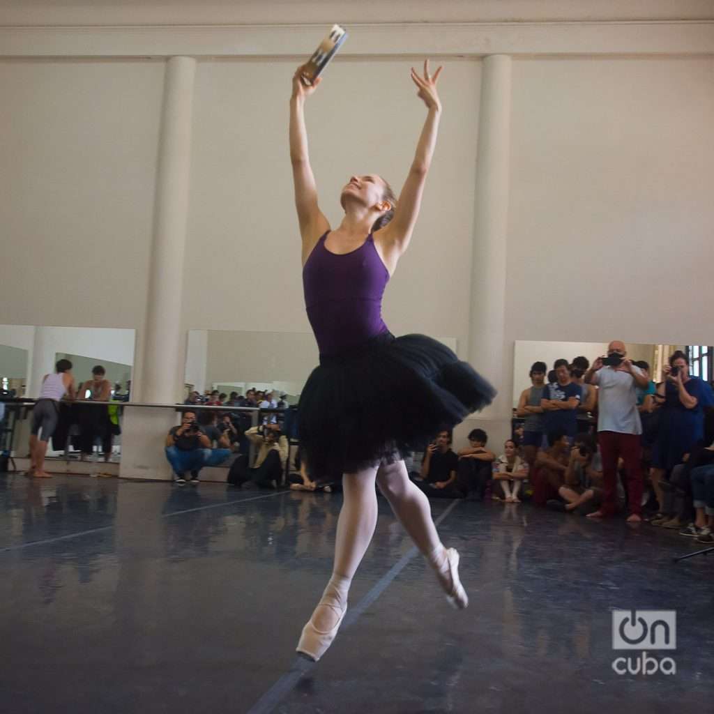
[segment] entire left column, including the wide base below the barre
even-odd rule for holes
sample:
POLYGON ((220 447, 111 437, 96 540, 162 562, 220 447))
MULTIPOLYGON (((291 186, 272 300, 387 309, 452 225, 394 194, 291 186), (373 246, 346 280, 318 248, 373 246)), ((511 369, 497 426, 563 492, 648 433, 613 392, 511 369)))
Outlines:
MULTIPOLYGON (((176 403, 181 397, 186 335, 181 329, 183 255, 186 250, 191 109, 196 60, 166 63, 154 199, 154 239, 144 330, 137 336, 132 401, 176 403)), ((124 413, 122 478, 171 478, 164 440, 177 421, 173 409, 131 407, 124 413)))

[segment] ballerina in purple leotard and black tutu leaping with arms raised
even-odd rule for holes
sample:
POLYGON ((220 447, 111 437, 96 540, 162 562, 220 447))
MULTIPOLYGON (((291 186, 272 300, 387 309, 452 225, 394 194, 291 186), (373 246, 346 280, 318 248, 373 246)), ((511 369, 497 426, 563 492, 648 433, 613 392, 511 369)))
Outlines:
POLYGON ((411 71, 428 114, 399 200, 378 174, 352 176, 341 193, 345 216, 334 230, 318 208, 303 115, 320 80, 308 87, 302 71, 293 76, 290 154, 305 302, 320 366, 301 394, 299 438, 313 478, 341 473, 344 490, 332 577, 297 648, 318 660, 345 615, 353 575, 374 533, 375 481, 450 603, 468 605, 458 553, 439 540, 428 499, 409 480, 400 451, 463 421, 495 392, 443 344, 423 335, 395 338, 381 318, 384 288, 409 245, 436 144, 441 67, 433 76, 428 62, 423 76, 411 71))

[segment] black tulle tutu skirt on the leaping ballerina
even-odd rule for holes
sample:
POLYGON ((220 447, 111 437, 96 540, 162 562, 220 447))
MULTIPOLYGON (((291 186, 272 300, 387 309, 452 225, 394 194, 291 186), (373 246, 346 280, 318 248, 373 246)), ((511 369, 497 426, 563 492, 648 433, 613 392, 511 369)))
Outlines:
POLYGON ((333 481, 421 446, 487 406, 496 390, 446 345, 383 333, 321 356, 298 405, 308 472, 333 481))

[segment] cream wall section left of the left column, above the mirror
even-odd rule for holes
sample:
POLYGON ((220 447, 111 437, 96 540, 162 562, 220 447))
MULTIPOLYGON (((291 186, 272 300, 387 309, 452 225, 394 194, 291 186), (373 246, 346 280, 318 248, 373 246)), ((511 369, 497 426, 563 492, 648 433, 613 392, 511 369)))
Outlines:
POLYGON ((0 62, 1 320, 138 328, 164 64, 0 62))

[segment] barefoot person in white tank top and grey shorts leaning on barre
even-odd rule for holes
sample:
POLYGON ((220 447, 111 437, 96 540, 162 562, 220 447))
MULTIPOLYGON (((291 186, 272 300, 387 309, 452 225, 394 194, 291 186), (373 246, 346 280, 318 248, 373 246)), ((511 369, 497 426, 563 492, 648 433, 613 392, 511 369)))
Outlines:
POLYGON ((44 468, 47 443, 59 421, 61 399, 75 397, 74 376, 71 370, 72 363, 68 359, 61 359, 55 365, 54 374, 46 374, 42 378, 40 396, 32 410, 30 468, 27 476, 51 478, 44 468))

